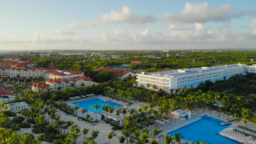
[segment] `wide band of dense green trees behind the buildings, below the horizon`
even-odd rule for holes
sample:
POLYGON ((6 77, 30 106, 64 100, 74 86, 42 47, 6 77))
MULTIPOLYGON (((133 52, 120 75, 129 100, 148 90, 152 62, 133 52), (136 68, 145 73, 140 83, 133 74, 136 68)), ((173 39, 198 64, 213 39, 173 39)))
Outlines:
MULTIPOLYGON (((158 69, 184 69, 191 67, 202 67, 211 65, 233 64, 233 63, 246 63, 253 64, 249 58, 254 58, 255 51, 222 51, 222 52, 190 52, 190 51, 151 51, 151 52, 122 52, 118 53, 119 57, 129 59, 112 59, 102 60, 99 56, 25 56, 23 60, 30 59, 37 62, 36 67, 48 67, 54 63, 60 69, 73 69, 83 71, 93 75, 93 70, 101 66, 112 66, 131 64, 133 60, 139 60, 142 64, 133 64, 131 69, 144 69, 148 71, 157 71, 158 69), (169 57, 166 57, 166 54, 169 57), (152 58, 152 56, 154 56, 152 58), (194 63, 193 63, 194 60, 194 63), (92 74, 91 74, 92 73, 92 74)), ((106 55, 105 57, 108 57, 106 55)), ((110 57, 110 56, 109 56, 110 57)))

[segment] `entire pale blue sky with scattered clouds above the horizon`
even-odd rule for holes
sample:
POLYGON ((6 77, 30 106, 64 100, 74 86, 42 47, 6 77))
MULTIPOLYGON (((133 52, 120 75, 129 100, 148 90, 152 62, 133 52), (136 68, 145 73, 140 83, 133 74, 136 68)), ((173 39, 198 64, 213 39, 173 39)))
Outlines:
POLYGON ((254 49, 255 0, 0 0, 0 50, 254 49))

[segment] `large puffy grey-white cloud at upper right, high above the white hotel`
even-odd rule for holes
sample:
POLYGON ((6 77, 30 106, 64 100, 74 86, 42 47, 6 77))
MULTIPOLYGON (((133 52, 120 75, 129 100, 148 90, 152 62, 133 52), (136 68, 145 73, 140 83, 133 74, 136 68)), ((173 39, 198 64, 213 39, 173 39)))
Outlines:
POLYGON ((205 3, 185 3, 185 7, 180 13, 164 13, 163 20, 167 23, 205 23, 207 21, 226 21, 229 19, 231 5, 211 8, 205 3))

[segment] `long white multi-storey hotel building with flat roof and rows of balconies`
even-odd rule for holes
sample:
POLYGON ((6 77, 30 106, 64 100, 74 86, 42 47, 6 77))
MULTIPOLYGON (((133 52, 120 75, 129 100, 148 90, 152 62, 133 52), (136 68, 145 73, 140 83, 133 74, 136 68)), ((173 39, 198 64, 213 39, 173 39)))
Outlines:
POLYGON ((230 78, 232 75, 245 74, 246 72, 256 72, 256 65, 232 64, 219 65, 201 68, 177 69, 162 72, 142 72, 137 75, 138 85, 149 83, 157 85, 168 91, 171 88, 184 88, 185 86, 197 87, 201 82, 210 80, 212 82, 230 78))

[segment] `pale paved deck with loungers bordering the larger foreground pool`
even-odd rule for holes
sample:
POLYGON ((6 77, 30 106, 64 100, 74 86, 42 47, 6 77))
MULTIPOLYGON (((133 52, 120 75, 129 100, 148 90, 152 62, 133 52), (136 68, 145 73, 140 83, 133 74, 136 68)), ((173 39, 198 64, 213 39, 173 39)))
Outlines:
MULTIPOLYGON (((231 119, 227 120, 225 118, 218 117, 218 115, 213 115, 213 112, 211 112, 211 114, 210 114, 209 111, 201 111, 200 113, 198 113, 196 115, 192 115, 192 117, 187 119, 187 120, 180 120, 179 122, 177 122, 177 124, 174 124, 174 125, 170 125, 169 124, 169 125, 167 125, 166 128, 163 128, 162 134, 165 135, 165 134, 167 134, 170 131, 174 131, 174 130, 176 130, 178 128, 184 127, 187 124, 193 123, 194 121, 198 121, 198 120, 201 119, 200 117, 203 116, 203 115, 209 115, 209 116, 212 116, 214 118, 218 118, 218 119, 223 120, 223 121, 230 121, 231 120, 231 119)), ((232 123, 231 126, 229 126, 228 128, 224 129, 223 131, 220 131, 221 135, 223 135, 225 137, 229 137, 230 139, 239 141, 240 143, 245 143, 247 141, 250 141, 250 138, 248 138, 246 136, 233 133, 232 129, 236 128, 236 122, 231 122, 231 123, 232 123)), ((238 125, 243 126, 243 123, 240 121, 238 125)), ((246 128, 253 129, 253 125, 252 124, 247 124, 246 128)), ((237 128, 237 130, 243 131, 242 128, 237 128)), ((252 134, 252 132, 250 132, 250 131, 245 131, 245 133, 252 134)))

